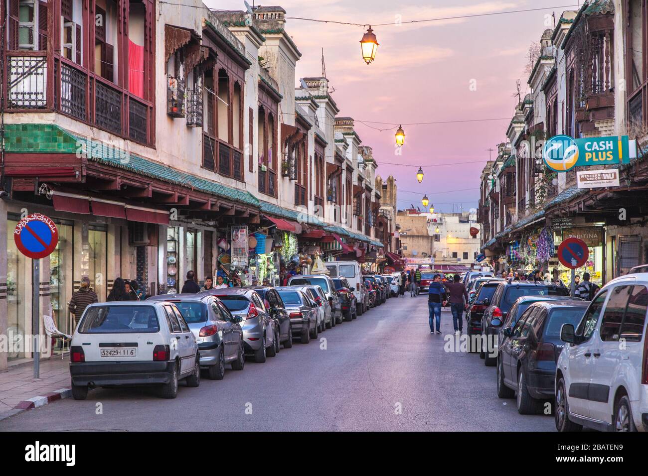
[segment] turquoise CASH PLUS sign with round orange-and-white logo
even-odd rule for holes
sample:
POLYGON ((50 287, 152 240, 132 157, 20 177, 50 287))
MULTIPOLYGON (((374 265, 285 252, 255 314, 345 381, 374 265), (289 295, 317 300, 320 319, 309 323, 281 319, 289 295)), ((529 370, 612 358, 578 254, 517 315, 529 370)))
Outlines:
MULTIPOLYGON (((636 142, 632 145, 636 147, 636 142)), ((542 158, 554 172, 567 172, 574 167, 625 164, 631 153, 627 135, 585 139, 555 135, 544 143, 542 158)))

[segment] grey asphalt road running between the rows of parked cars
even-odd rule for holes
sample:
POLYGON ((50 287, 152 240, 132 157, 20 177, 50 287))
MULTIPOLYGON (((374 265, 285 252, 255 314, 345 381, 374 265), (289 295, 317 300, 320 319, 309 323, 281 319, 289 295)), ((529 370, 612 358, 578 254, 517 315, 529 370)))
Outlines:
POLYGON ((95 389, 84 402, 3 420, 0 431, 555 431, 553 416, 523 416, 497 398, 495 369, 478 354, 445 352, 449 310, 441 322, 443 334, 430 334, 425 296, 392 298, 319 342, 295 341, 221 381, 203 375, 196 389, 181 383, 175 400, 145 387, 95 389))

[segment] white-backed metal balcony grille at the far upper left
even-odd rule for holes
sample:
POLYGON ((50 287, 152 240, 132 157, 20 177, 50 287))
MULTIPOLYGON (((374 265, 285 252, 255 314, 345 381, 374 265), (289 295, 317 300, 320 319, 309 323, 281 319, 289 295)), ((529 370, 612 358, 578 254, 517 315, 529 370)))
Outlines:
POLYGON ((7 58, 10 109, 47 107, 47 58, 45 56, 9 56, 7 58))

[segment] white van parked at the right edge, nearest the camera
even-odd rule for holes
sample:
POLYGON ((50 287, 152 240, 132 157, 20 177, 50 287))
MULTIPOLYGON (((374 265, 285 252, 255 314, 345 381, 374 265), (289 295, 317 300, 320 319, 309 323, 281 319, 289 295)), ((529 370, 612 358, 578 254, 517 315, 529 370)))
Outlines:
POLYGON ((606 284, 574 330, 556 365, 555 420, 559 431, 582 426, 648 430, 648 273, 606 284))

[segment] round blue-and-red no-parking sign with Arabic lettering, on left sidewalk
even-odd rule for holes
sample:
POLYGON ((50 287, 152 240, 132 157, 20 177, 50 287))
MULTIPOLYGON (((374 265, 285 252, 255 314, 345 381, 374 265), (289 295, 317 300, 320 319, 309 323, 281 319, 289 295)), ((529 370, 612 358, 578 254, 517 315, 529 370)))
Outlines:
POLYGON ((58 244, 58 229, 48 216, 32 213, 16 225, 14 242, 17 249, 28 258, 45 258, 58 244))

